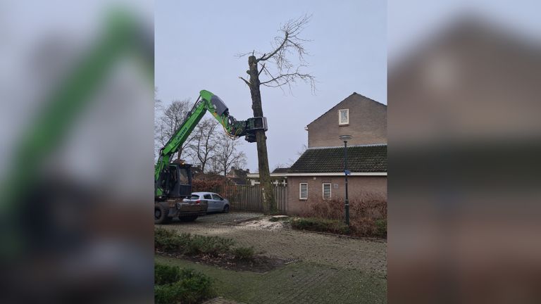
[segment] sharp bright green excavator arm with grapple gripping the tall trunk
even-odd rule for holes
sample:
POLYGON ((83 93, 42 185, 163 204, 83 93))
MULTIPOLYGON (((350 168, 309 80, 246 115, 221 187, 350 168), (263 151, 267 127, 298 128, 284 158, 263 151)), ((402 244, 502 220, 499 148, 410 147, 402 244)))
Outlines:
POLYGON ((235 120, 229 114, 228 106, 216 95, 210 91, 202 90, 199 92, 199 98, 192 110, 187 114, 184 122, 180 125, 177 132, 169 139, 167 144, 160 150, 158 162, 154 171, 155 196, 163 196, 164 191, 160 186, 162 172, 170 163, 170 158, 178 152, 182 144, 192 133, 199 120, 203 118, 206 111, 209 111, 220 125, 222 125, 226 134, 232 139, 244 136, 249 142, 256 141, 255 132, 257 129, 267 130, 266 118, 249 118, 248 120, 235 120))

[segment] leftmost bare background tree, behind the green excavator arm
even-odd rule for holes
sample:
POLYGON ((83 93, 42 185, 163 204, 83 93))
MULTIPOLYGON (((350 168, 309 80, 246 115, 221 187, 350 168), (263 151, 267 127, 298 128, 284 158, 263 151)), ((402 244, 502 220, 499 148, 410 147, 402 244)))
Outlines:
MULTIPOLYGON (((169 106, 163 108, 161 115, 156 120, 155 132, 156 132, 156 144, 158 148, 167 144, 167 141, 173 137, 178 130, 182 122, 186 119, 189 110, 192 109, 192 103, 189 99, 182 101, 173 101, 169 106), (156 131, 157 129, 157 131, 156 131)), ((189 137, 176 154, 177 160, 182 159, 182 152, 191 143, 193 137, 189 137)), ((174 156, 173 156, 174 158, 174 156)))

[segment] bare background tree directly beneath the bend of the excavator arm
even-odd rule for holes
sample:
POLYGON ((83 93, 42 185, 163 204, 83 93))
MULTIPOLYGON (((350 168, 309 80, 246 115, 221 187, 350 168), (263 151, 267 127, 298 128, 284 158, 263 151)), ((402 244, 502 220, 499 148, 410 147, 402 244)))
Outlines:
POLYGON ((216 127, 218 127, 218 122, 213 118, 201 120, 192 132, 192 141, 187 146, 193 163, 199 165, 202 172, 205 172, 206 165, 216 153, 218 145, 216 127))

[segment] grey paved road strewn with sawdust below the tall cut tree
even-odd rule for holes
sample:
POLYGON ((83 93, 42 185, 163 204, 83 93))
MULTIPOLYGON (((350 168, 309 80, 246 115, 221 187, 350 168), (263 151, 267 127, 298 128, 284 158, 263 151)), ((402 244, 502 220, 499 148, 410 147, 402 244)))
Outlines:
POLYGON ((260 213, 218 213, 198 218, 192 223, 173 222, 167 229, 207 236, 220 236, 240 246, 254 246, 256 251, 275 258, 315 262, 321 265, 360 270, 387 276, 387 243, 351 239, 343 236, 292 230, 281 222, 268 222, 260 213), (223 224, 231 222, 237 224, 223 224))

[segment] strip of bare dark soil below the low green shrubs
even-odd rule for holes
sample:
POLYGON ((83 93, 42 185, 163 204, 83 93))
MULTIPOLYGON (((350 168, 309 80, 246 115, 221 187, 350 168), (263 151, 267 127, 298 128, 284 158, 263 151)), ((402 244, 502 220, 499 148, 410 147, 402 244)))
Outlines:
POLYGON ((198 264, 211 265, 214 267, 234 270, 234 271, 249 271, 257 273, 266 273, 270 270, 275 270, 283 265, 290 264, 294 260, 282 260, 280 258, 270 258, 263 255, 256 255, 247 260, 237 260, 233 255, 183 255, 180 253, 164 253, 156 252, 156 254, 167 258, 178 258, 189 260, 198 264))

